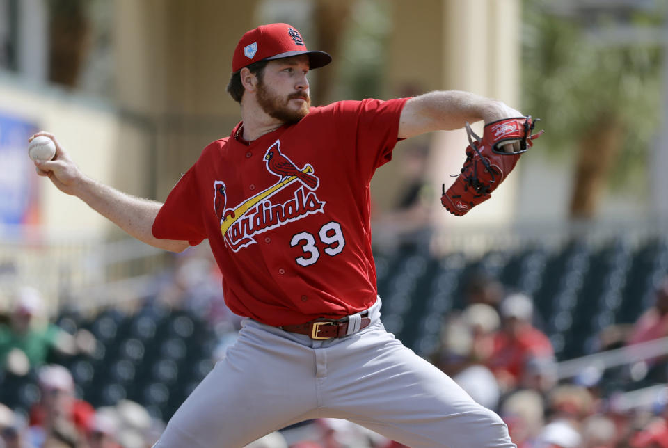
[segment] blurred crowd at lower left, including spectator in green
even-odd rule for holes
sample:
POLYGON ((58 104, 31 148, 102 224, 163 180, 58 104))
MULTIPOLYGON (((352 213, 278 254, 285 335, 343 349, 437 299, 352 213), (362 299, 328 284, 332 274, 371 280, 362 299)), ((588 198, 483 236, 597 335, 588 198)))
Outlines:
POLYGON ((4 381, 9 376, 35 378, 36 387, 27 412, 0 403, 0 448, 152 446, 164 424, 143 406, 121 400, 96 409, 77 397, 70 370, 49 363, 54 354, 89 355, 95 337, 88 330, 68 333, 47 319, 46 310, 39 292, 24 287, 0 323, 0 389, 11 387, 4 381))

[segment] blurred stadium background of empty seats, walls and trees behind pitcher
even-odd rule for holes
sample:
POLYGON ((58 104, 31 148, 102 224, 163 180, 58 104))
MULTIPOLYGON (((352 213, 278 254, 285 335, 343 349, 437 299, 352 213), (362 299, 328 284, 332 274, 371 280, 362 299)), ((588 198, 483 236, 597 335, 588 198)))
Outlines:
MULTIPOLYGON (((239 35, 289 22, 334 56, 310 76, 314 104, 471 90, 547 130, 494 199, 463 218, 438 197, 466 134, 397 145, 372 183, 388 330, 438 360, 472 283, 498 280, 532 296, 560 383, 594 366, 606 406, 634 431, 647 426, 665 408, 665 364, 652 361, 668 342, 630 355, 611 334, 653 305, 668 273, 666 5, 552 3, 0 0, 3 321, 16 291, 33 287, 50 321, 95 337, 90 353, 49 358, 72 371, 80 397, 96 408, 132 399, 168 419, 238 328, 212 259, 206 248, 172 255, 126 239, 33 174, 26 138, 52 131, 91 177, 164 200, 237 122, 225 86, 239 35)), ((0 402, 28 413, 35 372, 3 371, 0 402)))

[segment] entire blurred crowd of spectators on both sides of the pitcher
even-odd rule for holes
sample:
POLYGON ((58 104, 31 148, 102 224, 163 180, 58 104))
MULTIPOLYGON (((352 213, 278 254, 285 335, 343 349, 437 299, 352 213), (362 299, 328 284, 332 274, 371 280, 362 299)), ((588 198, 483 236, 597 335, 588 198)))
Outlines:
MULTIPOLYGON (((212 361, 234 342, 239 317, 227 307, 220 278, 208 256, 193 251, 177 258, 158 280, 150 298, 171 310, 191 310, 212 328, 212 361)), ((0 403, 0 448, 148 448, 165 422, 141 404, 122 399, 95 408, 80 397, 72 373, 51 362, 60 356, 95 351, 95 336, 85 329, 67 331, 47 319, 47 307, 35 289, 19 289, 0 315, 0 388, 11 374, 36 378, 35 400, 27 410, 0 403)), ((559 378, 550 339, 532 298, 507 291, 491 277, 475 278, 463 309, 444 317, 440 347, 431 361, 473 399, 495 410, 509 426, 519 448, 668 448, 668 388, 649 406, 619 406, 617 392, 605 387, 604 371, 587 369, 559 378)), ((633 345, 668 336, 668 278, 657 285, 653 306, 616 341, 633 345)), ((602 348, 610 342, 602 341, 602 348)), ((667 357, 646 363, 663 385, 667 357)), ((623 378, 617 378, 623 381, 623 378)), ((456 437, 456 435, 452 435, 456 437)), ((350 422, 318 419, 267 435, 254 448, 401 447, 350 422)))

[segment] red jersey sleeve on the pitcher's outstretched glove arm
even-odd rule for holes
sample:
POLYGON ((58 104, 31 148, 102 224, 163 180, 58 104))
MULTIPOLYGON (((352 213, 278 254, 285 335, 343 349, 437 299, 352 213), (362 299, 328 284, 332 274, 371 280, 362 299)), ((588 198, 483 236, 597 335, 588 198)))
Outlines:
POLYGON ((337 103, 335 114, 344 129, 354 134, 354 160, 358 171, 369 179, 376 168, 392 160, 399 141, 399 117, 408 98, 364 99, 337 103))

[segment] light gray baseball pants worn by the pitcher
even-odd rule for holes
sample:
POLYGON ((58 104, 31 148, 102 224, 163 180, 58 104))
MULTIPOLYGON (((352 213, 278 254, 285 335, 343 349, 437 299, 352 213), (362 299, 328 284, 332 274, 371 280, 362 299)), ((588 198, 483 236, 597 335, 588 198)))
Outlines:
POLYGON ((500 417, 415 355, 380 321, 312 340, 246 319, 225 358, 155 448, 240 448, 307 419, 347 419, 408 447, 514 448, 500 417))

